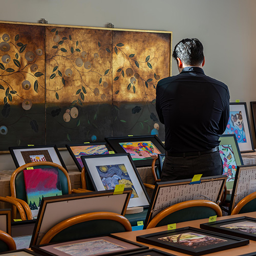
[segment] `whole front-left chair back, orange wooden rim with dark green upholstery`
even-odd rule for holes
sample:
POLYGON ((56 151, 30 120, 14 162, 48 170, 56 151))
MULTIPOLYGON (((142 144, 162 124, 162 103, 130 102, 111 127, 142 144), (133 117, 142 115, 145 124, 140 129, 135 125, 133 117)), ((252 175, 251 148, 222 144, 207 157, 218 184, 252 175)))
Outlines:
POLYGON ((122 215, 108 211, 90 212, 56 224, 48 230, 40 244, 105 236, 123 231, 132 231, 132 226, 122 215))

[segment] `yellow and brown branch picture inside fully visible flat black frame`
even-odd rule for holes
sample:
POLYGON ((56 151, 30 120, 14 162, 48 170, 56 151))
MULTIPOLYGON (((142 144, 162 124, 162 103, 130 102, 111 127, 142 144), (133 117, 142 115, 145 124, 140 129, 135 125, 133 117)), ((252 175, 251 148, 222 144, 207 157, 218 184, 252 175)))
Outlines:
POLYGON ((175 234, 174 236, 159 238, 159 240, 169 242, 169 243, 189 246, 194 249, 203 247, 203 246, 209 246, 213 244, 227 242, 227 240, 224 240, 224 239, 205 236, 203 234, 198 234, 193 232, 175 234))

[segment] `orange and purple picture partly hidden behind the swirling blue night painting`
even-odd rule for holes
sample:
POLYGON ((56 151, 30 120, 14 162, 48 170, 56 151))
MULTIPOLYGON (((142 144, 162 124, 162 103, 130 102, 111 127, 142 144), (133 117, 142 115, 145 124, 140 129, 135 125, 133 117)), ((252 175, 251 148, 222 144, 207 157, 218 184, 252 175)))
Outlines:
POLYGON ((81 167, 83 167, 81 156, 109 154, 109 150, 105 145, 71 146, 70 148, 81 167))

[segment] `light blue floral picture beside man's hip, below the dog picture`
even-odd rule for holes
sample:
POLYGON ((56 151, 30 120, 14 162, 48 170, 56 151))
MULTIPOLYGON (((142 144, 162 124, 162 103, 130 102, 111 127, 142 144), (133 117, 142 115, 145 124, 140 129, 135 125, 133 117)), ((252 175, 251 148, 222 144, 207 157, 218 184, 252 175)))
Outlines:
POLYGON ((220 145, 220 156, 223 162, 223 175, 227 176, 227 181, 234 180, 237 170, 237 162, 231 145, 220 145))

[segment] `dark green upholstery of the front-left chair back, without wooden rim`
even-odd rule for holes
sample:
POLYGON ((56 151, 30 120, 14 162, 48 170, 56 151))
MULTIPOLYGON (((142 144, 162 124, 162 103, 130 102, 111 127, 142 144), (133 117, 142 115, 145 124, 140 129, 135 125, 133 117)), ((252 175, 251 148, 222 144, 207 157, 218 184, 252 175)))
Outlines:
POLYGON ((92 220, 75 224, 56 234, 51 243, 66 242, 70 240, 89 237, 106 236, 110 233, 124 232, 124 226, 113 220, 92 220))

